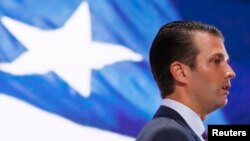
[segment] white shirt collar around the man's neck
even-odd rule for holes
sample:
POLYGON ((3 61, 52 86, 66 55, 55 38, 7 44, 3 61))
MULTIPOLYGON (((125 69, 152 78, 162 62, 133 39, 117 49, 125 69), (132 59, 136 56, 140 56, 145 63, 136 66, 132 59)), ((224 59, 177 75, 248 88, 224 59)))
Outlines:
POLYGON ((202 138, 202 133, 205 131, 204 124, 200 117, 192 109, 172 99, 164 99, 162 105, 177 111, 196 133, 196 135, 198 135, 202 141, 204 140, 202 138))

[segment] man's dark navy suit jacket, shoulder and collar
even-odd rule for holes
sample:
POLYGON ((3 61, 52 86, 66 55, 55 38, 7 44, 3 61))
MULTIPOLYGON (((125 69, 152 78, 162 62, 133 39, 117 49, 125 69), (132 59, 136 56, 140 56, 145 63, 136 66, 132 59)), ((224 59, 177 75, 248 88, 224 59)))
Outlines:
POLYGON ((175 110, 160 106, 136 141, 201 141, 175 110))

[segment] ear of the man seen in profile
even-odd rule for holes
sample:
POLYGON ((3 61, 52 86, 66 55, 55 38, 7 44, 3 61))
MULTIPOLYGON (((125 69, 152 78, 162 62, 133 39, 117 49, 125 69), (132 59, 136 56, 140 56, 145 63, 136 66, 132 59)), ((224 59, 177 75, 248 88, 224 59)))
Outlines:
POLYGON ((172 73, 175 81, 187 83, 187 66, 181 62, 175 61, 170 65, 170 72, 172 73))

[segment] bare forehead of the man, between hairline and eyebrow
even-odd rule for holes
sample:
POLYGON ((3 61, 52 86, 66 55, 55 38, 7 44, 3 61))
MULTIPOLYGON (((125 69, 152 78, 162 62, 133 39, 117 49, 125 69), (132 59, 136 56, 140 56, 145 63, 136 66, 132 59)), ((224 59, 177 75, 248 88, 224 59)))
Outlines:
POLYGON ((228 54, 225 49, 224 40, 216 35, 206 32, 193 33, 194 46, 199 50, 198 55, 210 57, 220 55, 228 59, 228 54))

